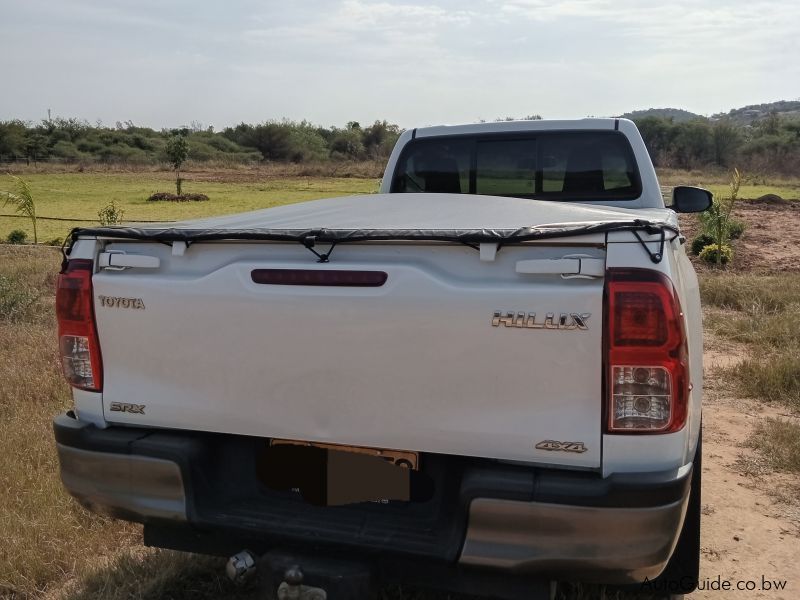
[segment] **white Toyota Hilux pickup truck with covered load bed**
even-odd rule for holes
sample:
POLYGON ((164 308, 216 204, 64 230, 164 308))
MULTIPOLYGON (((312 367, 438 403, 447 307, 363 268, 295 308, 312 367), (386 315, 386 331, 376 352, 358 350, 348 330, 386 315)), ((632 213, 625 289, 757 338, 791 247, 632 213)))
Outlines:
POLYGON ((676 212, 710 201, 665 208, 630 121, 520 121, 405 132, 377 195, 78 229, 64 485, 147 544, 297 563, 305 597, 689 592, 702 339, 676 212))

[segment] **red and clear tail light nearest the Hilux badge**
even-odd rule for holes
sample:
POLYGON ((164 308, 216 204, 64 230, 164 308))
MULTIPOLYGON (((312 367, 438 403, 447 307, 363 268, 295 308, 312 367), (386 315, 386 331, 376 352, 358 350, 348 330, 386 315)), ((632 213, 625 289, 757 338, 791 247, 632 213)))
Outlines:
POLYGON ((606 277, 605 388, 609 433, 670 433, 686 423, 686 333, 672 282, 647 269, 606 277))

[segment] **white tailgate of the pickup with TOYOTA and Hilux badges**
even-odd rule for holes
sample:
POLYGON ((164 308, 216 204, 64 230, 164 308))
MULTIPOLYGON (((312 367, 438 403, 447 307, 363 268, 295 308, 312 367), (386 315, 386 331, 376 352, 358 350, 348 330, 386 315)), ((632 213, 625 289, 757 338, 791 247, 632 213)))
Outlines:
POLYGON ((109 422, 600 466, 603 279, 517 263, 603 259, 602 245, 509 246, 481 261, 461 245, 367 244, 322 264, 297 244, 108 249, 160 259, 94 276, 109 422), (256 283, 259 269, 387 278, 276 285, 256 283))

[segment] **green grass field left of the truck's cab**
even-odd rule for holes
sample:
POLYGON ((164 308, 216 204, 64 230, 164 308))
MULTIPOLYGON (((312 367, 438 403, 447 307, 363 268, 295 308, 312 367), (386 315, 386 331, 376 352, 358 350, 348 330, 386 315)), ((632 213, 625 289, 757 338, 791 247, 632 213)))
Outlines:
MULTIPOLYGON (((217 175, 215 181, 193 181, 192 174, 186 176, 184 192, 206 194, 209 200, 203 202, 148 202, 153 192, 174 193, 175 180, 168 172, 31 173, 22 177, 33 192, 37 216, 76 219, 39 219, 40 242, 63 238, 73 227, 91 226, 77 219, 92 219, 97 224, 97 213, 112 200, 125 211, 125 221, 177 221, 378 190, 376 179, 290 177, 242 181, 235 173, 229 175, 229 180, 225 180, 225 174, 217 175)), ((13 185, 11 177, 0 177, 0 190, 13 191, 13 185)), ((3 207, 0 200, 0 214, 13 213, 14 207, 3 207)), ((0 240, 14 229, 24 230, 32 241, 33 228, 28 219, 0 216, 0 240)))

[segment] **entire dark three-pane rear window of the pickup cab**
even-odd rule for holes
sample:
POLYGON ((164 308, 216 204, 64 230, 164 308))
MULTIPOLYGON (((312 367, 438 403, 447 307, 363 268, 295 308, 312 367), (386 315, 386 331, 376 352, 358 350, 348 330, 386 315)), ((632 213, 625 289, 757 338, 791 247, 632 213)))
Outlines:
POLYGON ((412 140, 397 163, 391 191, 633 200, 642 185, 622 133, 539 132, 412 140))

